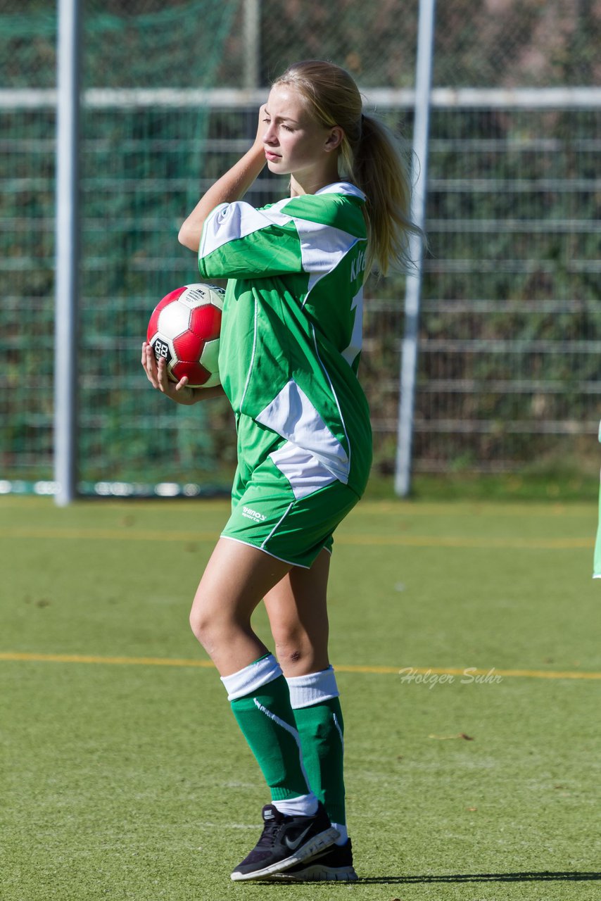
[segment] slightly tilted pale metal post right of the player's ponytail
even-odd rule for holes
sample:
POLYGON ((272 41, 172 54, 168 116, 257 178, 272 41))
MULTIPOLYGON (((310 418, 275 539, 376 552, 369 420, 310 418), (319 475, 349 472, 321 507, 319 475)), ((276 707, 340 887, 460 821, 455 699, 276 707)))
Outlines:
MULTIPOLYGON (((420 0, 417 32, 412 167, 414 191, 411 201, 411 219, 420 228, 423 228, 425 222, 435 6, 435 0, 420 0)), ((405 336, 401 350, 395 468, 395 491, 402 497, 406 497, 411 488, 411 449, 423 269, 423 244, 418 235, 410 236, 409 253, 413 266, 407 273, 405 285, 405 336)))

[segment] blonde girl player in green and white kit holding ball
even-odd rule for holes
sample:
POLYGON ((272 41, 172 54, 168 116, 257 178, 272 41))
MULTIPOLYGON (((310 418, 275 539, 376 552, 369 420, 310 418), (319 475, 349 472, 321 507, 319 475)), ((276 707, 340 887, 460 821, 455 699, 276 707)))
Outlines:
MULTIPOLYGON (((252 147, 179 233, 203 278, 229 279, 219 371, 238 468, 190 623, 271 794, 260 840, 232 879, 357 878, 326 588, 332 533, 360 499, 371 461, 357 378, 363 281, 373 263, 386 272, 404 260, 408 207, 395 144, 362 113, 353 79, 310 60, 278 78, 252 147), (289 178, 289 196, 255 209, 241 197, 266 165, 289 178), (251 628, 261 600, 277 656, 251 628)), ((146 344, 141 361, 178 403, 222 392, 169 382, 146 344)))

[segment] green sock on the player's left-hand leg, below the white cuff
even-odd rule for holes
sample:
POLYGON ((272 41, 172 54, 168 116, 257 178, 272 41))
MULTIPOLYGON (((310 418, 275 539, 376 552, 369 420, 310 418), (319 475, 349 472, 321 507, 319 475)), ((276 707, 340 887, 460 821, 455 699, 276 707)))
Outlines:
POLYGON ((233 715, 259 763, 271 799, 284 801, 308 795, 301 743, 284 676, 272 678, 250 694, 230 699, 233 715))

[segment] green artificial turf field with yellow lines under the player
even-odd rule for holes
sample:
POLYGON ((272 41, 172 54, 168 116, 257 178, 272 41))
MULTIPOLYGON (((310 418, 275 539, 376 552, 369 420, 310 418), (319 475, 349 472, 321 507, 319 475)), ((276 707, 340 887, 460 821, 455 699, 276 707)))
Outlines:
POLYGON ((595 501, 365 501, 337 532, 350 886, 230 880, 269 797, 187 627, 226 514, 0 499, 0 896, 598 901, 595 501))

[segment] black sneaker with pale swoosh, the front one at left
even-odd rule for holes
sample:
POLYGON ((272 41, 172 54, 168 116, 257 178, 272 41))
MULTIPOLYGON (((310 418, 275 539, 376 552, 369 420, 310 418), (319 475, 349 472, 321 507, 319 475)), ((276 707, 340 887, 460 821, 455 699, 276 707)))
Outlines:
POLYGON ((267 804, 263 807, 263 820, 259 842, 234 869, 232 879, 260 879, 294 867, 328 848, 339 834, 321 801, 313 816, 287 816, 267 804))

